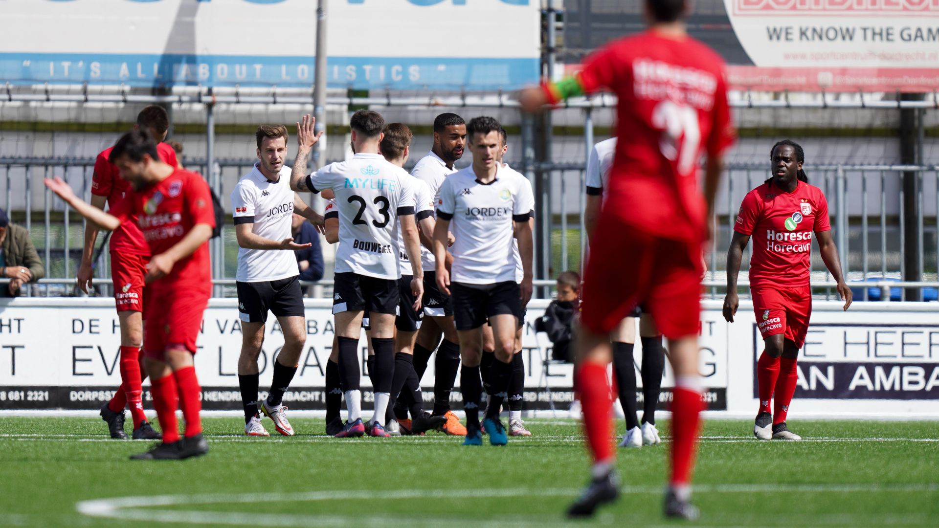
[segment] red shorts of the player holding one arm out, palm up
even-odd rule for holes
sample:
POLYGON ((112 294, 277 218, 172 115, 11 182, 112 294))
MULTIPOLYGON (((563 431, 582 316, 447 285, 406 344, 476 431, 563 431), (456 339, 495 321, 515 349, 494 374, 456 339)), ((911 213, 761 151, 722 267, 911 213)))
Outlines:
POLYGON ((210 291, 192 291, 170 283, 151 285, 146 292, 150 298, 144 321, 144 356, 165 361, 164 352, 171 348, 194 354, 210 291))

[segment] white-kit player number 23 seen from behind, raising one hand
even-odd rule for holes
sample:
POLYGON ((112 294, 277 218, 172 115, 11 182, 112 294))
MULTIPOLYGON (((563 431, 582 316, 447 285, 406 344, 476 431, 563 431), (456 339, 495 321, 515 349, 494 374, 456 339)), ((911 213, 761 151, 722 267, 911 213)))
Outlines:
POLYGON ((408 171, 388 163, 378 154, 385 120, 371 110, 359 110, 349 119, 352 129, 350 160, 330 163, 304 177, 310 149, 319 136, 315 119, 303 116, 297 123, 300 150, 294 162, 291 187, 295 191, 319 193, 331 189, 339 207, 339 251, 336 254, 332 313, 339 342, 339 378, 346 397, 348 418, 338 438, 362 436, 361 371, 359 336, 362 315, 369 312, 372 346, 375 349, 375 414, 368 434, 390 436, 382 422, 391 398, 394 372, 394 316, 397 313, 401 277, 398 252, 404 250, 414 279, 411 291, 420 309, 423 269, 417 223, 414 221, 413 179, 408 171), (401 223, 403 243, 398 238, 401 223), (403 247, 402 247, 403 246, 403 247))

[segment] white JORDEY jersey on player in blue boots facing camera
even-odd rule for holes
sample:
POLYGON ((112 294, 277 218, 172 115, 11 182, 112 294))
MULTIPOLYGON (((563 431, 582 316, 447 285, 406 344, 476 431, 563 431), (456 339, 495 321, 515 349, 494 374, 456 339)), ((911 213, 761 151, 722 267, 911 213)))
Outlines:
POLYGON ((516 280, 513 223, 528 222, 532 210, 531 183, 512 169, 500 166, 489 184, 476 179, 472 166, 447 177, 437 216, 450 221, 456 238, 451 280, 477 285, 516 280))

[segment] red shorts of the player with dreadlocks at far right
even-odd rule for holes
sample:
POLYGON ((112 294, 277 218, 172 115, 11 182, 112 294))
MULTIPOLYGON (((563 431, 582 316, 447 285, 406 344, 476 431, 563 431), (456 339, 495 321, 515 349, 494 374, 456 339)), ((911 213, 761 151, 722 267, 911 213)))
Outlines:
POLYGON ((798 348, 806 342, 812 315, 812 288, 750 287, 753 313, 762 338, 785 334, 798 348))

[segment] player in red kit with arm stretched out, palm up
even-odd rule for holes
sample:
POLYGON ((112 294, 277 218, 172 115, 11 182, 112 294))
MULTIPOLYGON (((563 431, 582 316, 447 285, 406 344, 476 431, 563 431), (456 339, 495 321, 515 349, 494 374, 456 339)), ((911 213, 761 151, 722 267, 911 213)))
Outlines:
POLYGON ((144 355, 150 376, 153 407, 163 441, 133 459, 179 459, 204 455, 199 412, 201 389, 195 376, 195 339, 211 295, 208 239, 215 213, 208 184, 198 174, 163 163, 157 144, 146 131, 128 132, 109 157, 122 179, 131 182, 131 199, 114 214, 95 208, 72 193, 62 179, 46 186, 66 203, 104 229, 116 229, 136 217, 150 249, 146 264, 146 332, 144 355), (177 429, 178 405, 186 420, 182 438, 177 429))

